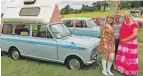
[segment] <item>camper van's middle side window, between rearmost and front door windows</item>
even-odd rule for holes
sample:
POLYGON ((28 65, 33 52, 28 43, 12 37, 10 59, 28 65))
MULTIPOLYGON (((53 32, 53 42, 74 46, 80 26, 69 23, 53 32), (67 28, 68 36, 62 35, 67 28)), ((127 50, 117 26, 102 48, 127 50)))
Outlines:
POLYGON ((15 35, 29 36, 30 26, 25 24, 15 25, 15 35))

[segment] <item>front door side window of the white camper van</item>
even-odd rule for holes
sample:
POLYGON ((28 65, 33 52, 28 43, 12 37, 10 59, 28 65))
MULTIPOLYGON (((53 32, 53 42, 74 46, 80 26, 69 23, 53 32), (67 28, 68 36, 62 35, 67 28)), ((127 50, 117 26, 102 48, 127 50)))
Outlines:
POLYGON ((33 37, 42 37, 42 38, 52 38, 52 35, 47 30, 46 26, 34 25, 32 27, 32 36, 33 37))

